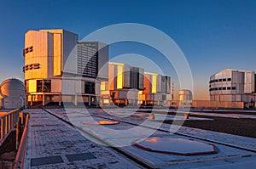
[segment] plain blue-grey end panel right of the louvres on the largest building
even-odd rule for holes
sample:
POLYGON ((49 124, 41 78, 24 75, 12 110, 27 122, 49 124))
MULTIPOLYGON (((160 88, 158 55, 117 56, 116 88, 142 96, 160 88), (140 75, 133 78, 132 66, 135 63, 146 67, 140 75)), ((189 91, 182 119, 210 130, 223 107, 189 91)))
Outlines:
POLYGON ((108 56, 109 48, 107 44, 98 42, 98 78, 108 80, 108 56))

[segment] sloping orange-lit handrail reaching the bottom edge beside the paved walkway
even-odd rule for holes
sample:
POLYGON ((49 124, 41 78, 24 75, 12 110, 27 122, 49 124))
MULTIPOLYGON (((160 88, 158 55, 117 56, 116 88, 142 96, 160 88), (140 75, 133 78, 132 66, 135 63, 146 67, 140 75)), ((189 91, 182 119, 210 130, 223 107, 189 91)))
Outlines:
POLYGON ((24 166, 25 153, 26 153, 26 141, 27 141, 27 127, 28 127, 29 114, 26 114, 26 123, 22 137, 20 139, 20 146, 15 156, 13 169, 22 169, 24 166))

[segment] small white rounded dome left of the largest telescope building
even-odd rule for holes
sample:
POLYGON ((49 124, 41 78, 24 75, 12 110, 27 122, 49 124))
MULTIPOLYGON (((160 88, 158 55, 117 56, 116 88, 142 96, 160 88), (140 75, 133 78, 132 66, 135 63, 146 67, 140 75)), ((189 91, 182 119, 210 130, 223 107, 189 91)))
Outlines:
POLYGON ((20 97, 26 95, 24 83, 18 79, 8 79, 2 82, 0 93, 1 95, 8 97, 20 97))

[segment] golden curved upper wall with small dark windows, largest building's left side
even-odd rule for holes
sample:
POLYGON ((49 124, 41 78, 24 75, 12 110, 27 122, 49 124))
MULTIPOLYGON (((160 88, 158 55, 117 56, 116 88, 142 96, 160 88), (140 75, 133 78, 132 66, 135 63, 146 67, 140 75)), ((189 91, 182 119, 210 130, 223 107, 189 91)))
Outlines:
POLYGON ((49 48, 52 34, 41 31, 27 31, 25 35, 25 48, 32 47, 32 52, 25 55, 25 65, 39 64, 39 69, 25 71, 25 80, 32 78, 47 78, 49 69, 49 57, 53 56, 52 48, 49 48))

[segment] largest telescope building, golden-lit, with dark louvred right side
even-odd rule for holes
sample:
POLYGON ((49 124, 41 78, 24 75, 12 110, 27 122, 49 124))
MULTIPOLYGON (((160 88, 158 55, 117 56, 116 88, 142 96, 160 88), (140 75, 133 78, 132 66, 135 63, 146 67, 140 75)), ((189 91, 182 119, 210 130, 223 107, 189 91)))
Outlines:
POLYGON ((95 91, 108 81, 108 45, 78 42, 70 31, 27 31, 23 56, 26 104, 96 105, 95 91))

